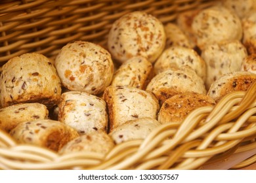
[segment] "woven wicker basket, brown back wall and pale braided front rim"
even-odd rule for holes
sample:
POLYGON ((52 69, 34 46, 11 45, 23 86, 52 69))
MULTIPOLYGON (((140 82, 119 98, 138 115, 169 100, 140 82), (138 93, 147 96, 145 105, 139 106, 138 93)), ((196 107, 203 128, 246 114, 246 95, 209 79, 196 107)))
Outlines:
MULTIPOLYGON (((177 14, 205 8, 207 0, 3 0, 0 3, 0 63, 26 52, 54 58, 74 40, 106 45, 117 18, 144 10, 163 24, 177 14)), ((182 124, 166 124, 144 140, 123 142, 106 156, 51 150, 16 144, 0 131, 0 169, 207 169, 215 162, 230 162, 239 169, 256 161, 256 83, 247 92, 232 92, 215 107, 191 112, 182 124), (239 156, 240 155, 240 156, 239 156), (237 158, 239 156, 239 158, 237 158), (228 159, 236 161, 228 161, 228 159)))

